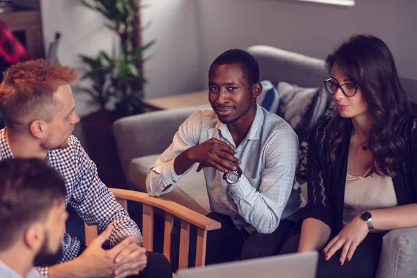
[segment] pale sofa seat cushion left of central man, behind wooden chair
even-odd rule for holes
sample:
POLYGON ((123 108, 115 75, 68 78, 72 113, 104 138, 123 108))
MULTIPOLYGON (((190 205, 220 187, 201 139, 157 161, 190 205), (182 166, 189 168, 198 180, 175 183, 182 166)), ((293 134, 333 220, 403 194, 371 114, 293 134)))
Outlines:
MULTIPOLYGON (((158 156, 160 154, 152 154, 131 160, 128 170, 128 179, 131 183, 129 185, 130 189, 146 192, 147 172, 158 156)), ((162 195, 162 197, 206 215, 210 212, 206 182, 203 171, 197 173, 196 170, 197 163, 188 174, 181 177, 174 190, 162 195)))

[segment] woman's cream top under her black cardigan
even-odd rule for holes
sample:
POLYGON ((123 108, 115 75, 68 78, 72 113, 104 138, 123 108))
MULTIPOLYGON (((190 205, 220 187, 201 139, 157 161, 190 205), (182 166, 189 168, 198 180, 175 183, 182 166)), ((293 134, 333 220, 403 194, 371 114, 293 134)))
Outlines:
POLYGON ((365 177, 368 172, 362 177, 346 174, 344 226, 363 211, 397 206, 393 179, 378 174, 365 177))

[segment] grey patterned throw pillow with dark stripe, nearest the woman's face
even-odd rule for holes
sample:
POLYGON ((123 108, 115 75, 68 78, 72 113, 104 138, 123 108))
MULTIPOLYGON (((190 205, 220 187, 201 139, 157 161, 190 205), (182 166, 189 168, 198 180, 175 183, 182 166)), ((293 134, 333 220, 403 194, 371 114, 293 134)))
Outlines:
POLYGON ((321 119, 332 97, 325 88, 302 88, 286 82, 277 85, 279 108, 277 115, 286 120, 300 140, 300 165, 296 174, 307 178, 309 134, 321 119))

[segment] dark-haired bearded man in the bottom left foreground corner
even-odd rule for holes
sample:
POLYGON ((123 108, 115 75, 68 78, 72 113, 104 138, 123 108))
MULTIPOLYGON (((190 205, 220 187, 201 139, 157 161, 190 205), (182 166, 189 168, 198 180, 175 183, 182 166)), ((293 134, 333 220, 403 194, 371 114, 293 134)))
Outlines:
POLYGON ((62 256, 65 182, 37 158, 0 162, 0 277, 40 278, 62 256))

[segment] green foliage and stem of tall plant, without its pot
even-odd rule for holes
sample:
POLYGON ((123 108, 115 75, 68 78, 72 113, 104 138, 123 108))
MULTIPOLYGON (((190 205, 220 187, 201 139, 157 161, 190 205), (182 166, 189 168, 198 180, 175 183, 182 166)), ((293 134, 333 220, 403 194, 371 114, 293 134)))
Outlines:
POLYGON ((140 46, 138 0, 80 1, 106 18, 106 27, 117 34, 119 46, 113 55, 106 51, 100 51, 96 57, 80 55, 88 67, 82 79, 90 79, 92 87, 79 90, 88 92, 103 111, 108 103, 113 103, 117 117, 142 113, 142 85, 147 82, 142 76, 142 52, 154 41, 140 46))

